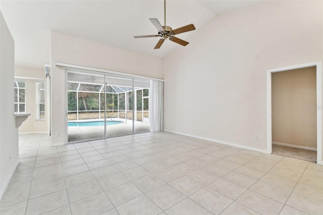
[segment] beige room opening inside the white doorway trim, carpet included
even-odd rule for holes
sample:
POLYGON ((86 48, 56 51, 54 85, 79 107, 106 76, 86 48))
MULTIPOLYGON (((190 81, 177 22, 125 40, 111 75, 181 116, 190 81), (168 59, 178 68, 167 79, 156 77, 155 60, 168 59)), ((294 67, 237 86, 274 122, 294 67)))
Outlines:
POLYGON ((272 153, 316 163, 316 67, 272 73, 272 153))

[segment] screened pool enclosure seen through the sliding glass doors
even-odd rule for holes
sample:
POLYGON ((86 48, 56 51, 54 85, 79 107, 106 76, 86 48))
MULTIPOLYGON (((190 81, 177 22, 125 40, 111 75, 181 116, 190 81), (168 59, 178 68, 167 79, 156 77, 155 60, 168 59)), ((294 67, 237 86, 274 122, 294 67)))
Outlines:
POLYGON ((149 132, 149 80, 72 71, 67 80, 68 142, 149 132))

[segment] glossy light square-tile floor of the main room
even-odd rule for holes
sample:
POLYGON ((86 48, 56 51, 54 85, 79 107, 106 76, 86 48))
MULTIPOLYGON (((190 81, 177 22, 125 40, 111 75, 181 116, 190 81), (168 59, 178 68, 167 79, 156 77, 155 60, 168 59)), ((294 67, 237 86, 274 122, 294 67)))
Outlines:
POLYGON ((323 214, 323 166, 167 132, 20 135, 0 214, 323 214))

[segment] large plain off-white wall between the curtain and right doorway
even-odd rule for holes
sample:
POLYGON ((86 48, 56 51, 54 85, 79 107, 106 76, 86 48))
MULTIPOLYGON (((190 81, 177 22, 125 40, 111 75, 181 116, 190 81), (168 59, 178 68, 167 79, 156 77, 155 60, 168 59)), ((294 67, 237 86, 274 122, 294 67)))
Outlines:
POLYGON ((269 1, 197 29, 163 61, 165 130, 265 150, 266 70, 323 60, 322 8, 269 1))

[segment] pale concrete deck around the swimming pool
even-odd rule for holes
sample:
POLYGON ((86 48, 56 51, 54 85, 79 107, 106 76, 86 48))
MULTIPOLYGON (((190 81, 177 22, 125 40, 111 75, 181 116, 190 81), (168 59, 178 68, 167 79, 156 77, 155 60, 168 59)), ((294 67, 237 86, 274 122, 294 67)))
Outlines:
MULTIPOLYGON (((90 122, 90 121, 102 121, 99 119, 96 120, 82 120, 82 122, 90 122)), ((107 137, 115 137, 132 134, 132 120, 127 120, 125 123, 125 119, 114 118, 113 121, 122 121, 124 123, 116 124, 116 125, 108 125, 106 126, 106 136, 107 137)), ((75 120, 71 120, 69 122, 77 122, 75 120)), ((135 132, 149 132, 150 124, 143 123, 139 121, 134 121, 135 132)), ((91 139, 104 138, 104 126, 70 126, 68 127, 68 142, 76 142, 76 141, 86 141, 91 139)))

